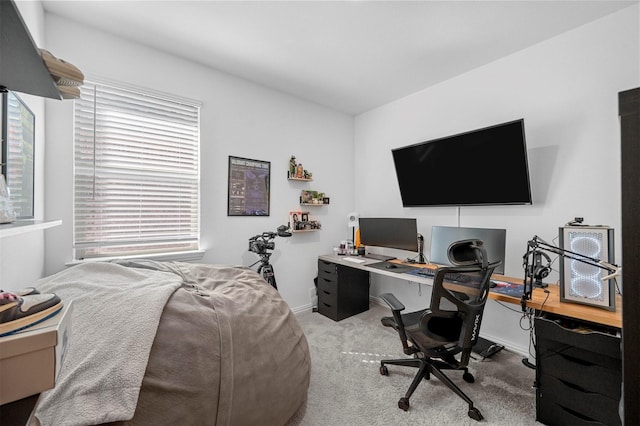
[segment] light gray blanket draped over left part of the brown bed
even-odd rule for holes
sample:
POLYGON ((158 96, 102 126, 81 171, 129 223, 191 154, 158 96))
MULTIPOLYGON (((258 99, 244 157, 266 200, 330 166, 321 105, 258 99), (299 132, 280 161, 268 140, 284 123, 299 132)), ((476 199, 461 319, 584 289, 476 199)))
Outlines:
POLYGON ((73 300, 71 344, 56 386, 42 395, 43 425, 130 419, 162 310, 182 279, 109 263, 81 264, 36 284, 73 300))

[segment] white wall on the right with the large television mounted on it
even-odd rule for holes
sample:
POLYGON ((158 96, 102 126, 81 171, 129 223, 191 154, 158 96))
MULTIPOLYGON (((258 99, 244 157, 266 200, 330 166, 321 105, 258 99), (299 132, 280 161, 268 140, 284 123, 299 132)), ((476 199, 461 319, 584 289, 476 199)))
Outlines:
MULTIPOLYGON (((463 207, 460 226, 506 228, 506 275, 514 277, 524 275, 527 240, 552 241, 575 216, 615 228, 621 253, 617 94, 640 84, 638 25, 635 5, 356 117, 356 176, 367 176, 355 180, 356 211, 417 217, 428 253, 431 226, 456 226, 457 209, 403 208, 391 149, 524 117, 533 205, 463 207)), ((477 173, 470 180, 481 182, 477 173)), ((429 288, 418 296, 416 284, 393 279, 375 278, 373 287, 413 309, 430 297, 429 288)), ((520 316, 492 301, 482 334, 526 351, 520 316)))

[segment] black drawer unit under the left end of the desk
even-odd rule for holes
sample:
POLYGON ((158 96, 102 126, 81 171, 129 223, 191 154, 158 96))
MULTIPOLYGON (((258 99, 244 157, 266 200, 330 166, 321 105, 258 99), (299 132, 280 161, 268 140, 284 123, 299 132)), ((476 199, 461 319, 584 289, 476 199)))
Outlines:
POLYGON ((369 309, 369 272, 318 260, 318 312, 340 321, 369 309))

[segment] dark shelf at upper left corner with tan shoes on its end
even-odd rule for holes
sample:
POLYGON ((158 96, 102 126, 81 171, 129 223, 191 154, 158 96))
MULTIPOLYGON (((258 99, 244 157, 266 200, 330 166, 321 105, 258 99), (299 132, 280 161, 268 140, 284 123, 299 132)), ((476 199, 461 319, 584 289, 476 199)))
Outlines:
POLYGON ((13 1, 0 2, 0 90, 61 99, 13 1))

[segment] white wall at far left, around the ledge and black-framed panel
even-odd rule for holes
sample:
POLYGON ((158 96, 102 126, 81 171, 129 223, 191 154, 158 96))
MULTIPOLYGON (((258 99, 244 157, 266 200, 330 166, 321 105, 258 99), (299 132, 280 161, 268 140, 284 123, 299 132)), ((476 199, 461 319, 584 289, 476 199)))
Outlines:
MULTIPOLYGON (((18 11, 37 46, 43 45, 44 13, 40 3, 18 2, 18 11)), ((36 117, 34 150, 34 216, 44 218, 45 101, 18 93, 36 117)), ((45 231, 0 238, 0 289, 15 290, 30 285, 44 273, 45 231)))

